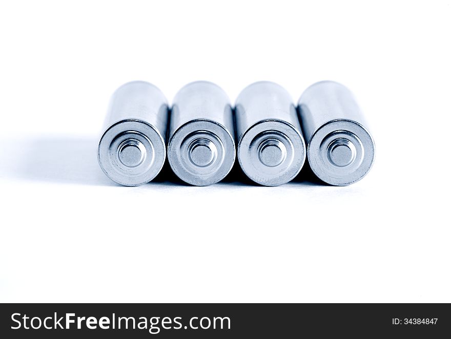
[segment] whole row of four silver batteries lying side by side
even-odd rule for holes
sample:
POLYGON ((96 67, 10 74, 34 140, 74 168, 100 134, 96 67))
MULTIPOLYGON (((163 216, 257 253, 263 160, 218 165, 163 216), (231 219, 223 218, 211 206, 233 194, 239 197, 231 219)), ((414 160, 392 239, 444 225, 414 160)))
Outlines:
POLYGON ((374 161, 374 141, 354 96, 333 81, 313 84, 297 106, 278 84, 256 82, 235 107, 216 84, 196 81, 176 94, 171 108, 158 88, 133 81, 113 94, 103 131, 100 167, 126 186, 155 178, 166 154, 174 173, 196 186, 222 180, 236 157, 265 186, 291 181, 305 158, 319 179, 338 186, 363 178, 374 161))

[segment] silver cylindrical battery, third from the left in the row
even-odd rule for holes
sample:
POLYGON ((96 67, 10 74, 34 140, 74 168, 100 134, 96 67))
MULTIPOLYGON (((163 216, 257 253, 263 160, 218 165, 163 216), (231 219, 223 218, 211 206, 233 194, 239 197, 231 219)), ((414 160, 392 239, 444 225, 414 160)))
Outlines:
POLYGON ((305 142, 290 94, 274 82, 256 82, 235 104, 237 157, 243 172, 265 186, 291 181, 305 161, 305 142))

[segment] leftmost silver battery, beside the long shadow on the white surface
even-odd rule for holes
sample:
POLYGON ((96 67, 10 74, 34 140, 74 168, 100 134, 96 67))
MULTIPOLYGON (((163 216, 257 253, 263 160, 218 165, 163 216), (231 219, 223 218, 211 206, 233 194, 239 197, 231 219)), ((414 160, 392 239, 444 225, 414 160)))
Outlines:
POLYGON ((132 81, 119 87, 98 144, 104 173, 125 186, 152 180, 166 159, 168 116, 168 102, 153 84, 132 81))

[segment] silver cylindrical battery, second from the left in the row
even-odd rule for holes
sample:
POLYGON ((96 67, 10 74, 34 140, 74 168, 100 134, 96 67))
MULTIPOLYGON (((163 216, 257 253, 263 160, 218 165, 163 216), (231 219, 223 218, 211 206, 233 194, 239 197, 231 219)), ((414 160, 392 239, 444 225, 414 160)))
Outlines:
POLYGON ((183 181, 206 186, 223 179, 235 162, 235 129, 227 94, 196 81, 175 95, 169 123, 168 160, 183 181))

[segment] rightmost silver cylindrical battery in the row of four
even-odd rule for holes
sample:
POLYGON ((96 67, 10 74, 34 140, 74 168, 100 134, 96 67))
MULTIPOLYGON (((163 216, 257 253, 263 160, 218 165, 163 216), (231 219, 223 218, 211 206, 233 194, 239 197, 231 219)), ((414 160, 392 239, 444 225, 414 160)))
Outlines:
POLYGON ((336 186, 362 179, 374 161, 374 141, 346 87, 320 81, 302 93, 298 110, 315 175, 336 186))

